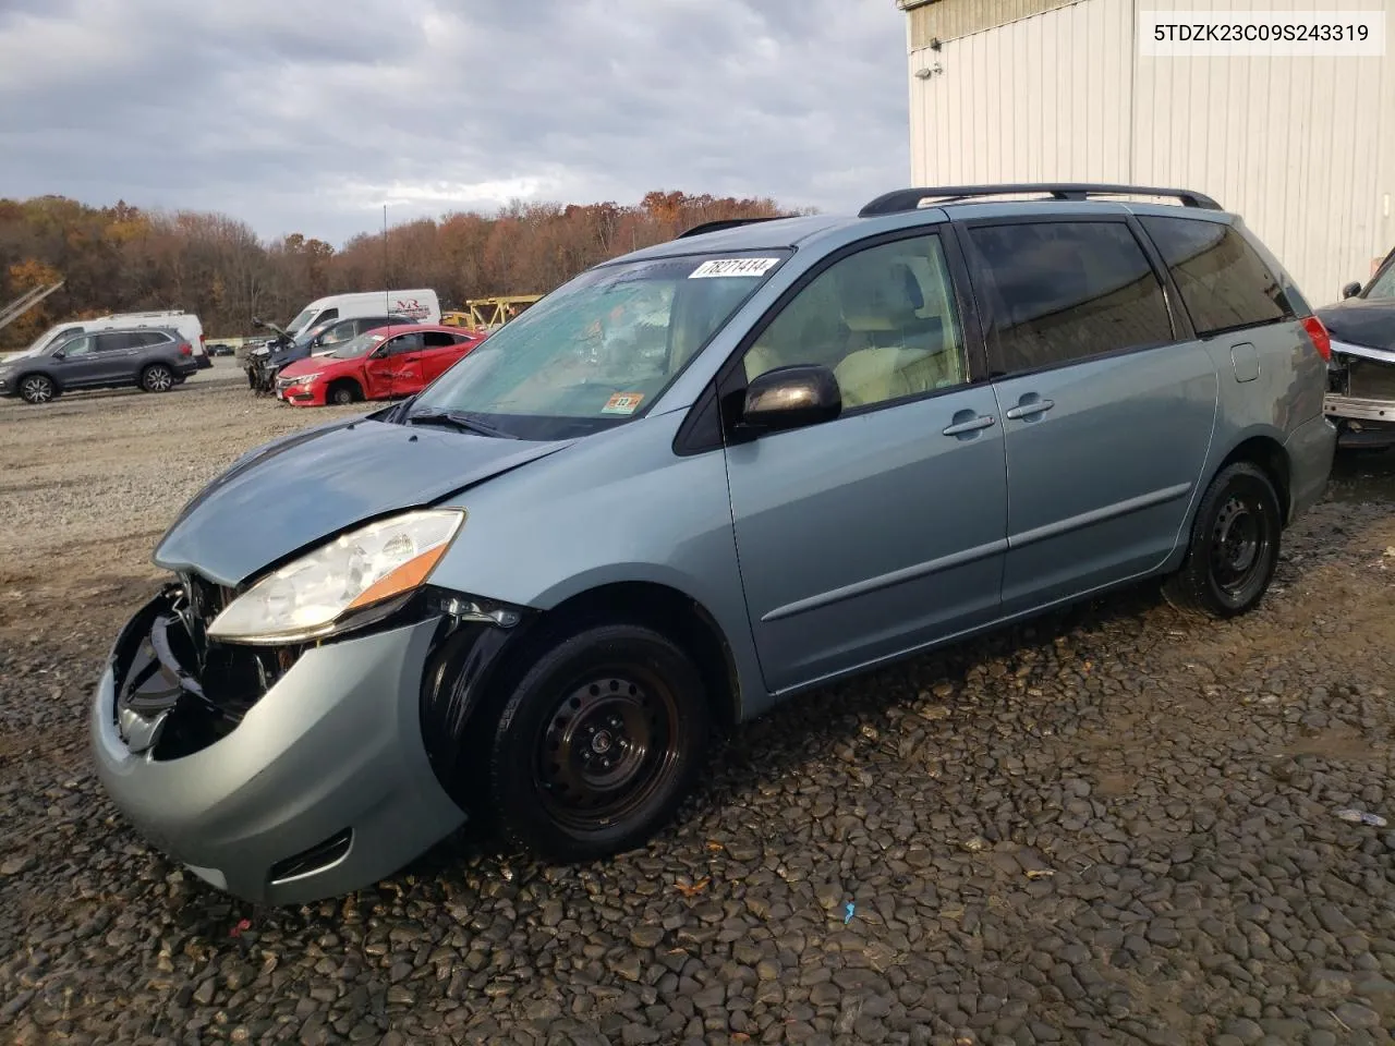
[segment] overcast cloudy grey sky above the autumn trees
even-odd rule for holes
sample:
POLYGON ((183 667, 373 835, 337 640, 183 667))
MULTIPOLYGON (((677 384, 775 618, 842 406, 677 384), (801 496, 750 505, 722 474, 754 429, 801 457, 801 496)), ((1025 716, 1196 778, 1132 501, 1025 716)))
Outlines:
POLYGON ((336 245, 509 198, 855 209, 905 183, 893 0, 0 0, 0 195, 336 245))

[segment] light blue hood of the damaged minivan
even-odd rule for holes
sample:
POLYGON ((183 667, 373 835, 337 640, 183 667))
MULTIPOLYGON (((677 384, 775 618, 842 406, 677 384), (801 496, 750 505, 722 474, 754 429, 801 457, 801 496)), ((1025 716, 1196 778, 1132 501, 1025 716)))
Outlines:
POLYGON ((572 442, 331 421, 234 462, 184 506, 153 559, 237 586, 356 523, 430 505, 572 442))

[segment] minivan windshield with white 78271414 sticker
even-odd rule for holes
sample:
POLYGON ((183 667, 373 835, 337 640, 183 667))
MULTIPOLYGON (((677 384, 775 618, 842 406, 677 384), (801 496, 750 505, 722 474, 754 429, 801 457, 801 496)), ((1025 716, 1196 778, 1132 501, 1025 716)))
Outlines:
POLYGON ((561 439, 643 414, 790 251, 604 265, 483 342, 413 404, 561 439))

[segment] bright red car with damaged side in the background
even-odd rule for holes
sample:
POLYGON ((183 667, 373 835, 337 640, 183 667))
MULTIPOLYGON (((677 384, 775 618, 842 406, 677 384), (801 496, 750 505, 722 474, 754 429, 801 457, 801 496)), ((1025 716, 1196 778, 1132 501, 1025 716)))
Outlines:
POLYGON ((460 326, 379 326, 311 356, 276 375, 276 397, 293 407, 322 407, 420 392, 488 335, 460 326))

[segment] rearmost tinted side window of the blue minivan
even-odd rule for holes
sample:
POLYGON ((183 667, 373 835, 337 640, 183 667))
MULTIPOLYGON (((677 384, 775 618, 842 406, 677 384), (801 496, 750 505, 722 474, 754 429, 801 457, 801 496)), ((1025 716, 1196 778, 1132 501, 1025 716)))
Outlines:
POLYGON ((1197 333, 1295 315, 1278 279, 1235 229, 1189 218, 1143 218, 1197 333))

